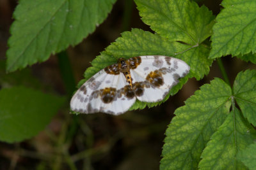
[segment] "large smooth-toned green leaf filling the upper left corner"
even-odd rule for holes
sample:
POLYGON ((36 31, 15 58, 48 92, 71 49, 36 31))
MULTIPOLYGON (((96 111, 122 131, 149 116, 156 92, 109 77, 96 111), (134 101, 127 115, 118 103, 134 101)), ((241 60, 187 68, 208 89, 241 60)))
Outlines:
POLYGON ((116 0, 22 0, 13 13, 7 71, 47 60, 77 45, 103 22, 116 0))

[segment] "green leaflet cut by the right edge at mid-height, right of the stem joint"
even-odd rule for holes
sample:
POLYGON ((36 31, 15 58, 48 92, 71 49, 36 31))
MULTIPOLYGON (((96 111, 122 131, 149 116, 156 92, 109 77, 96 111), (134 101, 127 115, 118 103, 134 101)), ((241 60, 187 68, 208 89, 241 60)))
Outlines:
POLYGON ((237 74, 234 81, 234 96, 244 117, 256 125, 256 71, 246 70, 237 74))

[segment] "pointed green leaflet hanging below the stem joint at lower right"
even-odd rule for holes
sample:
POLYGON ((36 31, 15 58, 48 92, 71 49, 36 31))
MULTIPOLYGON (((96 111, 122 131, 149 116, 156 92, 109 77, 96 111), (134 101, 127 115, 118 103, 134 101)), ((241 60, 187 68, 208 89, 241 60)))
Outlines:
POLYGON ((253 143, 255 134, 255 129, 235 108, 207 143, 199 164, 200 169, 246 169, 236 160, 236 154, 253 143))

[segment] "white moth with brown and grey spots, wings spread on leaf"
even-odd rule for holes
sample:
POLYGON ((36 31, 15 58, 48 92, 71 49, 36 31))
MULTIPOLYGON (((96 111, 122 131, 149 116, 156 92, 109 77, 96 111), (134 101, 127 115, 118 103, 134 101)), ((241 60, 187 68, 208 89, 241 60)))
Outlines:
POLYGON ((120 58, 117 64, 100 70, 77 90, 70 109, 120 115, 129 110, 136 99, 156 103, 164 99, 189 69, 183 60, 162 55, 120 58))

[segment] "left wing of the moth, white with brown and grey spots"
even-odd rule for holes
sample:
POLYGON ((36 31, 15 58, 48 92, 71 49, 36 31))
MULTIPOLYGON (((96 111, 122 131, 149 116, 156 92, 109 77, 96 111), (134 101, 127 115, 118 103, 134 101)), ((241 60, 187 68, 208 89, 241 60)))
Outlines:
POLYGON ((80 113, 119 115, 129 110, 135 101, 134 92, 123 74, 108 74, 102 69, 77 90, 70 108, 80 113))

